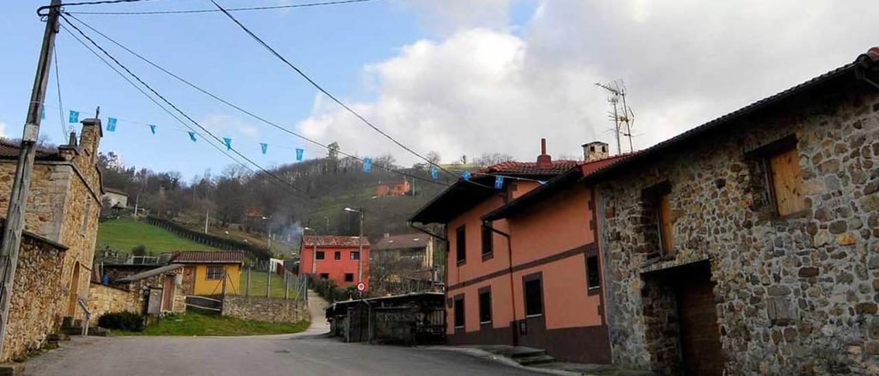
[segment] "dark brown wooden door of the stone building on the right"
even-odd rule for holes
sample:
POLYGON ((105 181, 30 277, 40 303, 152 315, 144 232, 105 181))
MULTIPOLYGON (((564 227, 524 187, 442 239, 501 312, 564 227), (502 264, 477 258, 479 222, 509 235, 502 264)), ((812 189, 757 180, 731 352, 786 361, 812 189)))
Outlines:
POLYGON ((722 375, 714 282, 706 276, 678 287, 680 342, 686 375, 722 375))

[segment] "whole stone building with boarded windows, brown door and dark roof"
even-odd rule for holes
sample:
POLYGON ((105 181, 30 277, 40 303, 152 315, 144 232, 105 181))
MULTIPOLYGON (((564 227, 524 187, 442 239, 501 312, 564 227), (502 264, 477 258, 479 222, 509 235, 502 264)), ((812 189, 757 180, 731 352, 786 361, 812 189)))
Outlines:
POLYGON ((879 48, 586 177, 614 363, 879 374, 879 48))

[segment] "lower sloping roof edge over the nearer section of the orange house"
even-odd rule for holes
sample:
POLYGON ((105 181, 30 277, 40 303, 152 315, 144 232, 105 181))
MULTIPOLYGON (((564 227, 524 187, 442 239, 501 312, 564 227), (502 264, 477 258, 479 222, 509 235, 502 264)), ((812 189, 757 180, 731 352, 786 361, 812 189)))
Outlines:
POLYGON ((569 187, 571 184, 577 183, 581 180, 581 177, 589 176, 593 171, 605 168, 608 165, 613 165, 618 161, 628 158, 630 155, 631 154, 613 155, 595 161, 579 163, 574 168, 550 179, 546 184, 542 184, 531 190, 531 192, 527 192, 506 203, 504 206, 500 206, 490 213, 483 215, 482 219, 483 221, 497 221, 502 218, 507 218, 512 214, 527 210, 527 208, 534 206, 543 199, 547 199, 554 193, 569 187))

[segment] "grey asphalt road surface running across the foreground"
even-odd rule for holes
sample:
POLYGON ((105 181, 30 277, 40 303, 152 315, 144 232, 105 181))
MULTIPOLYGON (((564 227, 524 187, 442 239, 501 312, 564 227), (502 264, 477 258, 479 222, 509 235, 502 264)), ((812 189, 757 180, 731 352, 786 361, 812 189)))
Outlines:
POLYGON ((27 375, 534 375, 455 352, 322 336, 76 337, 27 375))

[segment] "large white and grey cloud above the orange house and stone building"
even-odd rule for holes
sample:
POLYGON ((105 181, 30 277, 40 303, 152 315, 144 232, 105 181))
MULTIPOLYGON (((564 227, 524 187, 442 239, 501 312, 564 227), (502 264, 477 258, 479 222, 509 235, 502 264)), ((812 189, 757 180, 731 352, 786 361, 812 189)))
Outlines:
MULTIPOLYGON (((606 93, 594 83, 623 79, 636 148, 646 148, 854 61, 875 43, 879 18, 879 6, 858 3, 551 0, 517 34, 449 6, 437 19, 458 22, 454 33, 364 67, 376 98, 352 106, 422 154, 532 160, 541 137, 556 155, 611 142, 606 93)), ((416 161, 325 98, 299 127, 361 155, 416 161)))

